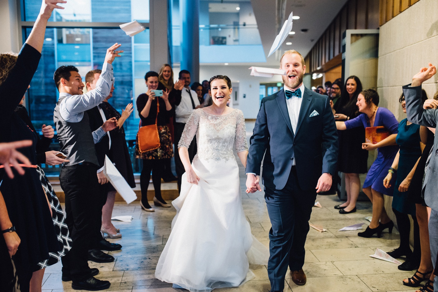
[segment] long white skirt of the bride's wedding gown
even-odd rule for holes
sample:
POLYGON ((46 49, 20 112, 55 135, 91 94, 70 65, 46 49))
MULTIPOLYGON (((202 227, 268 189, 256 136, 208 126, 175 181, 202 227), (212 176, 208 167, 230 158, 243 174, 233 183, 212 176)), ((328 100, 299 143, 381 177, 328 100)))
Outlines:
POLYGON ((249 264, 267 264, 269 251, 251 234, 233 159, 195 158, 198 185, 182 176, 172 232, 155 277, 191 292, 237 287, 254 277, 249 264))

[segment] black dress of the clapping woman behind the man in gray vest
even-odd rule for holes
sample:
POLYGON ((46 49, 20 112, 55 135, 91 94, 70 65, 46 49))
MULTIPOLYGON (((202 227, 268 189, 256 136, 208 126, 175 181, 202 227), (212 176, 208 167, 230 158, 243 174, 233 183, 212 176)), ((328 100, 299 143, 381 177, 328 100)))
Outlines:
MULTIPOLYGON (((108 113, 106 119, 117 118, 120 119, 121 115, 113 108, 108 102, 102 102, 100 105, 104 113, 108 113)), ((121 128, 116 127, 109 132, 111 135, 111 148, 109 148, 109 159, 115 164, 117 170, 126 179, 129 186, 135 187, 134 172, 132 170, 131 157, 129 156, 128 146, 125 139, 125 130, 123 126, 121 128)), ((115 190, 112 185, 109 186, 109 190, 115 190)))

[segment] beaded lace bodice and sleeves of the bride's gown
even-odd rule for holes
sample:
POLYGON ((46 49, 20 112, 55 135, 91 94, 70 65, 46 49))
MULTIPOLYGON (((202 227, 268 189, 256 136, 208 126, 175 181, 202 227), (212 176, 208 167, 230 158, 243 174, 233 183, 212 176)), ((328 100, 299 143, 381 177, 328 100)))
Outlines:
POLYGON ((235 160, 234 145, 237 152, 248 150, 244 115, 239 109, 223 116, 195 109, 187 120, 178 148, 188 148, 195 134, 198 153, 194 159, 235 160))

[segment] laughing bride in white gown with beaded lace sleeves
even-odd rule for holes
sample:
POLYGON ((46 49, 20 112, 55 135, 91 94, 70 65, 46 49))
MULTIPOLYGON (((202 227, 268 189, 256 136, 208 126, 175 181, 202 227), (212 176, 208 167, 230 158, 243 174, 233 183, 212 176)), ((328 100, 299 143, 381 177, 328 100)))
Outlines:
POLYGON ((249 264, 267 264, 269 251, 251 234, 240 197, 239 167, 248 145, 241 110, 226 106, 233 91, 230 78, 208 82, 212 106, 195 109, 178 144, 186 172, 177 215, 158 260, 155 277, 191 292, 237 287, 254 277, 249 264), (190 164, 187 148, 194 135, 198 154, 190 164))

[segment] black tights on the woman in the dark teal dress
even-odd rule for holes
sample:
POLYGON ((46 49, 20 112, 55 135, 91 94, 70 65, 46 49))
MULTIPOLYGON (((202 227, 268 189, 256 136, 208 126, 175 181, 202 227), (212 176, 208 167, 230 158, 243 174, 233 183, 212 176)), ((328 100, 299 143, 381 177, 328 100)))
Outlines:
MULTIPOLYGON (((409 236, 410 236, 410 220, 407 214, 401 213, 392 208, 396 215, 397 226, 400 233, 400 247, 402 250, 410 250, 409 236)), ((418 227, 417 217, 411 216, 413 219, 413 253, 411 261, 420 263, 421 247, 420 247, 420 229, 418 227)))

